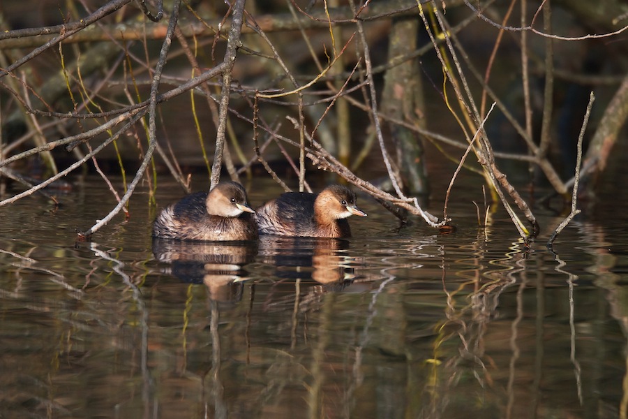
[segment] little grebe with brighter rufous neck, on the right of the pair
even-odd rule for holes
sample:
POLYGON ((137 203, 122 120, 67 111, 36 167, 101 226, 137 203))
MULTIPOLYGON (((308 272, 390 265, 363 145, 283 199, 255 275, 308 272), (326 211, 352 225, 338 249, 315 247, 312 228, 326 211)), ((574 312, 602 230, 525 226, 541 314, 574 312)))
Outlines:
POLYGON ((318 194, 283 193, 255 211, 260 234, 294 237, 351 237, 350 215, 366 213, 355 205, 355 194, 340 185, 318 194))

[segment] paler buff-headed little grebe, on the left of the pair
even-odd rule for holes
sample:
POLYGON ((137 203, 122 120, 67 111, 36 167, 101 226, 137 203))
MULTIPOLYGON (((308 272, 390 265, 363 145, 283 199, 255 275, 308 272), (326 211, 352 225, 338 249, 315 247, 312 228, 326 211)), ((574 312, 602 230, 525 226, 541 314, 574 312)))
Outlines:
POLYGON ((176 240, 255 240, 257 227, 241 184, 223 182, 209 193, 197 192, 165 207, 155 219, 153 236, 176 240))

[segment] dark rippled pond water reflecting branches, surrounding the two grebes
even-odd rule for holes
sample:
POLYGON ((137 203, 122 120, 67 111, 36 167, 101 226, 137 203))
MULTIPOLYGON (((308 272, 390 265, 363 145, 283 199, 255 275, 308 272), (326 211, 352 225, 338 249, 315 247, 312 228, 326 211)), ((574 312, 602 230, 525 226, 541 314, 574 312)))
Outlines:
POLYGON ((450 235, 360 196, 351 240, 248 245, 154 244, 147 188, 75 242, 98 179, 1 207, 0 418, 625 417, 626 228, 582 216, 552 253, 537 210, 526 249, 471 199, 450 235))

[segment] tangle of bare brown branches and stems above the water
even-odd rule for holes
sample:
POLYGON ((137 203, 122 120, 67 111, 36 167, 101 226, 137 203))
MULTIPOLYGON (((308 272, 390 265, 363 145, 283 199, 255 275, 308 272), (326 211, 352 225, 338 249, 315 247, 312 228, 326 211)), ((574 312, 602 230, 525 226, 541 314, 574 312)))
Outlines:
POLYGON ((176 22, 174 4, 163 17, 156 1, 0 5, 0 205, 66 168, 121 174, 124 193, 165 172, 189 191, 216 159, 304 189, 319 166, 399 204, 366 182, 426 196, 431 168, 453 174, 468 147, 461 175, 569 201, 591 92, 581 192, 612 196, 628 175, 625 1, 183 1, 176 22))

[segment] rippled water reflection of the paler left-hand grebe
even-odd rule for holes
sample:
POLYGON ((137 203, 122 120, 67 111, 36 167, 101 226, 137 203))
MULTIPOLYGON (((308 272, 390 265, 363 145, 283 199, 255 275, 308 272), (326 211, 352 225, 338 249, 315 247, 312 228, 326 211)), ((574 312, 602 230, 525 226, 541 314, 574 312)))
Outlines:
POLYGON ((244 265, 257 255, 257 242, 185 242, 153 240, 153 253, 165 272, 181 281, 205 284, 212 300, 237 302, 242 297, 244 265))

